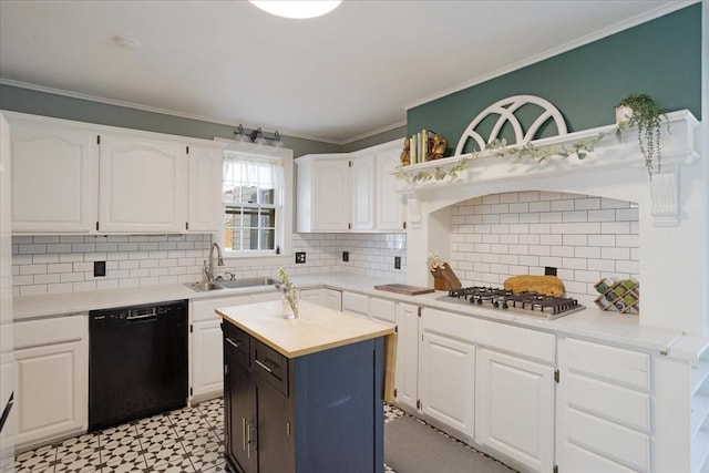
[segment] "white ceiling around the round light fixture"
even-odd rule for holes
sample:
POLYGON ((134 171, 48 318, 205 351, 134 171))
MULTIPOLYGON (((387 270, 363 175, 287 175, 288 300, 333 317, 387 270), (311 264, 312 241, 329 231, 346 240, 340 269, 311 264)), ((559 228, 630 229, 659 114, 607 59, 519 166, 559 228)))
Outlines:
POLYGON ((288 20, 243 0, 0 0, 0 78, 343 144, 404 124, 407 106, 686 4, 345 0, 288 20), (117 48, 117 34, 142 48, 117 48))

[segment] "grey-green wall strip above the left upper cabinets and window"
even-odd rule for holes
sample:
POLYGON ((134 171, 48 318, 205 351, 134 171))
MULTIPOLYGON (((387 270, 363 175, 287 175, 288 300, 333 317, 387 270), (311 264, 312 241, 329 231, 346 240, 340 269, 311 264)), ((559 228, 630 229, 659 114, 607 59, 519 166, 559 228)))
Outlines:
MULTIPOLYGON (((236 130, 235 126, 218 123, 110 105, 6 84, 0 84, 0 109, 204 140, 212 140, 215 136, 232 140, 236 130)), ((403 136, 403 131, 401 135, 403 136)), ((380 143, 384 141, 387 140, 382 140, 380 143)), ((342 146, 337 144, 286 135, 284 135, 284 142, 287 147, 294 151, 296 157, 308 153, 339 153, 342 150, 342 146)))

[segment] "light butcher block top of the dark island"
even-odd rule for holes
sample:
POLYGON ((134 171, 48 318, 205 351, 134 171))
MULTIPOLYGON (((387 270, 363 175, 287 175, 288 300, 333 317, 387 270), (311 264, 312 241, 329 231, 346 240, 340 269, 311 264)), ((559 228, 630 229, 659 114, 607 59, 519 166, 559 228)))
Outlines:
POLYGON ((312 302, 298 302, 299 316, 286 319, 282 302, 269 301, 216 310, 226 321, 287 358, 301 357, 358 341, 384 337, 393 328, 312 302))

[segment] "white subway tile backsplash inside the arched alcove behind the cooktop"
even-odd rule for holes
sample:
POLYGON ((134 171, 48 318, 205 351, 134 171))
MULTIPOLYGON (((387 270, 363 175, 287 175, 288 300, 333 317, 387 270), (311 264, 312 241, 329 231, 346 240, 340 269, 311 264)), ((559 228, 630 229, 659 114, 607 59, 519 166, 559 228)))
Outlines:
POLYGON ((492 194, 452 208, 451 267, 463 286, 557 268, 571 297, 603 277, 638 279, 637 205, 554 192, 492 194))

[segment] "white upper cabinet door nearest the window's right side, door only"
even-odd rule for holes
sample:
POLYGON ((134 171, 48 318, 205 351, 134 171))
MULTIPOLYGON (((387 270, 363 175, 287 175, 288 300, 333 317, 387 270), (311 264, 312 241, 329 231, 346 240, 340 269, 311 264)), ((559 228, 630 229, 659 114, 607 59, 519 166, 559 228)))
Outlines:
MULTIPOLYGON (((350 161, 317 160, 312 166, 312 229, 347 230, 350 224, 350 161)), ((300 191, 298 191, 300 192, 300 191)))

